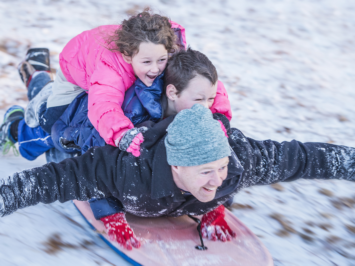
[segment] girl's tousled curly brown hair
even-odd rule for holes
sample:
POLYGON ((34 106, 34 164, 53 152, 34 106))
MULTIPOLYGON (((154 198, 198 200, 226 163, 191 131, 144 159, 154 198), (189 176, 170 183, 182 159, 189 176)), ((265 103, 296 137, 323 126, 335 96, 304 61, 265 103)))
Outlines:
POLYGON ((124 20, 121 27, 107 38, 111 51, 120 51, 129 57, 138 53, 141 43, 149 42, 164 45, 168 53, 178 50, 169 18, 153 14, 149 7, 137 16, 124 20))

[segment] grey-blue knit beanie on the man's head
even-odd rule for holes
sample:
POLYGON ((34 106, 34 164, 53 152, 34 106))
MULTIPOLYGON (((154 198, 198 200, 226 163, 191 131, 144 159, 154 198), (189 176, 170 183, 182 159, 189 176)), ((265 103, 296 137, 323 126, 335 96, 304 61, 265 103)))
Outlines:
POLYGON ((166 129, 169 165, 196 166, 231 155, 228 139, 211 110, 195 104, 180 111, 166 129))

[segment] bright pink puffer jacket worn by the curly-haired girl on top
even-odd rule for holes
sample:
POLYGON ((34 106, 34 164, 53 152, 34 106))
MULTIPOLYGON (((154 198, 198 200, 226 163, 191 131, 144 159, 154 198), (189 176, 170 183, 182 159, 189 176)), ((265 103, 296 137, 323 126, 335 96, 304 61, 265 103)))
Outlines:
MULTIPOLYGON (((185 29, 175 22, 172 28, 180 28, 186 46, 185 29)), ((106 48, 105 36, 120 25, 107 25, 84 31, 67 43, 59 55, 60 68, 67 81, 88 92, 88 117, 107 144, 115 146, 115 140, 132 128, 121 105, 126 90, 135 82, 133 68, 120 52, 106 48)), ((218 83, 217 96, 212 112, 223 113, 231 119, 230 104, 222 82, 218 83)))

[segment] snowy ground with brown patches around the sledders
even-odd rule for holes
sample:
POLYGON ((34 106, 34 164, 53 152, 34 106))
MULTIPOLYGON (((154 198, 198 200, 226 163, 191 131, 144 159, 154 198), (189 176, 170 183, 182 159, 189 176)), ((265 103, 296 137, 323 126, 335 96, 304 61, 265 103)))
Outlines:
MULTIPOLYGON (((345 0, 0 0, 0 116, 26 90, 16 66, 48 47, 51 67, 76 34, 118 23, 145 5, 186 28, 187 42, 217 67, 233 127, 258 140, 355 146, 355 2, 345 0)), ((0 176, 39 166, 0 156, 0 176)), ((355 265, 355 184, 307 181, 253 187, 233 212, 275 265, 355 265)), ((0 219, 0 261, 22 265, 129 265, 92 233, 71 203, 0 219)))

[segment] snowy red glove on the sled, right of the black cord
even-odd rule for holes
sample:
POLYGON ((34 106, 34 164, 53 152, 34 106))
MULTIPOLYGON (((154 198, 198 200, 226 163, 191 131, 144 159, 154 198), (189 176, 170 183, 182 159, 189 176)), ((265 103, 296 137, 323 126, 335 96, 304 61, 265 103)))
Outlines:
POLYGON ((201 220, 201 234, 209 240, 231 240, 237 234, 229 228, 227 222, 224 220, 224 206, 220 205, 213 211, 207 212, 202 216, 201 220))

